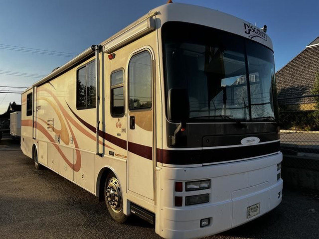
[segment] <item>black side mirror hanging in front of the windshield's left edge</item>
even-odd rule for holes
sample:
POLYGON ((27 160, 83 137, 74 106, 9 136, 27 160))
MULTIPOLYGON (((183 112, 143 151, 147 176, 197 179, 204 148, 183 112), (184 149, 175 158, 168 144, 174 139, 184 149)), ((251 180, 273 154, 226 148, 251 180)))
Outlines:
POLYGON ((169 121, 186 123, 189 119, 189 99, 187 89, 172 88, 167 97, 167 118, 169 121))

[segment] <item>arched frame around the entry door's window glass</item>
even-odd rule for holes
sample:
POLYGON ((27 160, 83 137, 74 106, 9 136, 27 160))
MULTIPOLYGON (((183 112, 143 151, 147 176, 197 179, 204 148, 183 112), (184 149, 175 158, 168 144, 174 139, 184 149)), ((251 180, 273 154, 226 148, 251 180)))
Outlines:
POLYGON ((128 79, 128 82, 127 82, 127 89, 128 89, 128 109, 130 112, 143 112, 143 111, 152 111, 153 110, 153 105, 154 105, 154 102, 153 102, 153 98, 154 98, 154 88, 153 88, 153 82, 154 82, 154 57, 153 57, 153 51, 152 51, 152 48, 150 48, 150 46, 144 46, 138 50, 136 50, 135 52, 133 52, 130 57, 129 57, 129 60, 128 60, 128 63, 127 63, 127 79, 128 79), (143 52, 148 52, 151 56, 151 107, 147 107, 147 108, 139 108, 139 109, 131 109, 130 108, 130 71, 129 71, 129 67, 130 67, 130 62, 132 60, 133 57, 143 53, 143 52))

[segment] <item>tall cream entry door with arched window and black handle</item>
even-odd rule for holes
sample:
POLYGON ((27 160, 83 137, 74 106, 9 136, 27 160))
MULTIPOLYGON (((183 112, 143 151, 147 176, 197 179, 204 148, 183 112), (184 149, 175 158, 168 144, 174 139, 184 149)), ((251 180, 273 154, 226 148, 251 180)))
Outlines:
POLYGON ((133 55, 128 70, 128 188, 154 200, 152 54, 133 55))

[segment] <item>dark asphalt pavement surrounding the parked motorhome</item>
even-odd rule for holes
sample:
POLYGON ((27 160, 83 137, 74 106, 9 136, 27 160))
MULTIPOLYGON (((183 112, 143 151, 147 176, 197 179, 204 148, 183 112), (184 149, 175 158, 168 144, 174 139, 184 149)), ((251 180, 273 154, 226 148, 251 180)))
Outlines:
MULTIPOLYGON (((103 202, 32 159, 8 135, 0 140, 0 239, 153 239, 154 226, 131 216, 118 224, 103 202)), ((285 187, 285 185, 284 185, 285 187)), ((205 239, 318 239, 319 192, 284 188, 270 213, 205 239)))

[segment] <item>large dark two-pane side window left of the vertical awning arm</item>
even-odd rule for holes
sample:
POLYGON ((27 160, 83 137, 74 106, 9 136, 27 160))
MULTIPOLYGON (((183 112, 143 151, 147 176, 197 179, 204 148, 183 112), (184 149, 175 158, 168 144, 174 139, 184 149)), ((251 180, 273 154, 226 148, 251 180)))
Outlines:
POLYGON ((95 61, 77 70, 76 108, 79 110, 95 107, 95 61))

